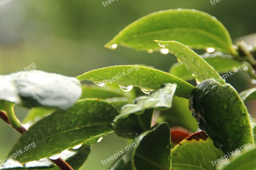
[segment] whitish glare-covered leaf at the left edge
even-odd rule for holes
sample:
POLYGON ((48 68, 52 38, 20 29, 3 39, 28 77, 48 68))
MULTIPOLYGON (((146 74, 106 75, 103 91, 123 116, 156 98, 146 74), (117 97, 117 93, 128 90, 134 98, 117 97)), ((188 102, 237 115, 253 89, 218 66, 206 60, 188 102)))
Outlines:
POLYGON ((81 83, 76 78, 39 70, 0 75, 0 100, 21 106, 71 107, 81 96, 81 83))

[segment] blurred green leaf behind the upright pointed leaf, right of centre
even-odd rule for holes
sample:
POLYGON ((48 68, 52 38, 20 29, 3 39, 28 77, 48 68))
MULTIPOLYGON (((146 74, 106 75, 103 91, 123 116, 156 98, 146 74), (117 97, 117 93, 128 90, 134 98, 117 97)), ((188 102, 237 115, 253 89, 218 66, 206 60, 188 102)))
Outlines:
MULTIPOLYGON (((233 68, 238 68, 241 66, 241 63, 237 60, 232 60, 229 58, 221 58, 221 57, 209 57, 204 58, 204 60, 210 64, 214 70, 218 73, 225 73, 226 71, 230 71, 233 68)), ((183 80, 193 80, 195 79, 194 76, 186 69, 183 63, 175 63, 172 65, 169 71, 170 74, 177 76, 183 80)))

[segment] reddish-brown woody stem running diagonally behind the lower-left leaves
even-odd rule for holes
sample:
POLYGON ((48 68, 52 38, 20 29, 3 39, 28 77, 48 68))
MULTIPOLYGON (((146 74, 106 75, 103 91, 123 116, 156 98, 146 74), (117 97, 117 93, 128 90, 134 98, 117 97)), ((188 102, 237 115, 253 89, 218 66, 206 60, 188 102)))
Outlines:
MULTIPOLYGON (((15 115, 14 115, 15 116, 15 115)), ((12 127, 7 115, 3 112, 3 111, 0 111, 0 118, 6 122, 9 126, 12 127)), ((20 121, 19 121, 20 122, 20 121)), ((21 123, 20 123, 20 128, 19 129, 16 129, 16 128, 13 128, 14 130, 16 130, 18 133, 20 133, 21 135, 23 135, 24 132, 28 131, 27 128, 25 128, 21 123)), ((70 165, 68 165, 68 163, 66 161, 64 161, 63 159, 61 158, 58 158, 58 159, 50 159, 55 165, 57 165, 61 170, 74 170, 70 165)))

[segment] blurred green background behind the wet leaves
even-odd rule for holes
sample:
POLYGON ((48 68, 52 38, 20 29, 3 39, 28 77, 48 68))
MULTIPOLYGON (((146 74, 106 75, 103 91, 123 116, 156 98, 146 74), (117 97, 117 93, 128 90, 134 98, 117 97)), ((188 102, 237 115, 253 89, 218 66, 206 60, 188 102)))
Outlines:
MULTIPOLYGON (((24 70, 31 63, 37 70, 73 77, 92 69, 134 63, 168 71, 177 62, 171 54, 149 54, 123 47, 109 50, 104 44, 133 21, 155 11, 176 8, 196 9, 215 16, 236 40, 256 32, 255 5, 254 0, 222 0, 214 6, 210 0, 119 0, 104 7, 100 0, 12 0, 0 5, 0 72, 24 70)), ((238 92, 253 86, 243 71, 227 82, 238 92)), ((247 104, 251 114, 255 114, 253 104, 247 104)), ((20 119, 26 112, 16 107, 20 119)), ((0 159, 4 159, 20 135, 2 121, 0 128, 0 159)), ((83 169, 108 169, 114 161, 103 166, 101 159, 124 149, 127 142, 115 134, 104 137, 93 146, 83 169)))

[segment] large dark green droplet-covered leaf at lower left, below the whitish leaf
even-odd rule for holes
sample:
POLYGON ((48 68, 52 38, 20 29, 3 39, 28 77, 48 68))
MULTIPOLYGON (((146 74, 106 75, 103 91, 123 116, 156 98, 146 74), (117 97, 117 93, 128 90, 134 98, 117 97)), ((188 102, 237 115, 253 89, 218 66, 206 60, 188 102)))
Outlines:
POLYGON ((113 132, 111 122, 117 114, 116 108, 104 100, 79 100, 67 111, 56 111, 36 122, 20 137, 10 154, 34 142, 35 148, 16 158, 23 164, 60 154, 78 144, 92 144, 113 132))

